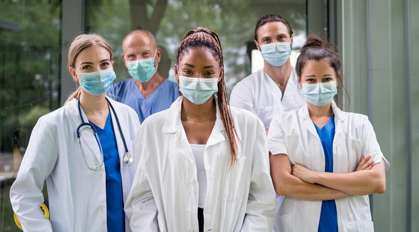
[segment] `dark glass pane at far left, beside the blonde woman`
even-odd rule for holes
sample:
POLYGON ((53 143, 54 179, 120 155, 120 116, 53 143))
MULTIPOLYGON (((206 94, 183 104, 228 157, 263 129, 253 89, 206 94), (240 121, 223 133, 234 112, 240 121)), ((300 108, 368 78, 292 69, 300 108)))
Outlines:
POLYGON ((0 231, 21 231, 9 189, 36 121, 60 104, 61 0, 0 4, 0 231))

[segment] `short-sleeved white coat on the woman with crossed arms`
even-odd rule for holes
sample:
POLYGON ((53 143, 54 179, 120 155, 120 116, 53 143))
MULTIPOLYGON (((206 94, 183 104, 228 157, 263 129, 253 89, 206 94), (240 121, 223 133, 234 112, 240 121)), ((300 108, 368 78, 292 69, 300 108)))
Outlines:
MULTIPOLYGON (((332 101, 335 115, 333 141, 333 172, 351 173, 356 170, 361 155, 371 155, 374 163, 389 163, 381 152, 374 129, 367 116, 341 111, 332 101)), ((300 164, 324 172, 325 161, 320 138, 310 118, 307 105, 298 110, 276 115, 268 133, 272 154, 286 154, 291 165, 300 164)), ((368 196, 335 200, 339 231, 373 232, 368 196)), ((274 224, 277 232, 317 232, 321 201, 282 198, 274 224)))

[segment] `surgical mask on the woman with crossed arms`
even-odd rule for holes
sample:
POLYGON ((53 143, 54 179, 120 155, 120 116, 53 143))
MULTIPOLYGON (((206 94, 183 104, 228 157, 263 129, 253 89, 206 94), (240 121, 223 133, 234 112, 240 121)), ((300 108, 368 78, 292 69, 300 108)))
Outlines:
POLYGON ((302 93, 304 99, 315 106, 325 106, 332 101, 333 97, 338 93, 336 82, 302 84, 302 93))

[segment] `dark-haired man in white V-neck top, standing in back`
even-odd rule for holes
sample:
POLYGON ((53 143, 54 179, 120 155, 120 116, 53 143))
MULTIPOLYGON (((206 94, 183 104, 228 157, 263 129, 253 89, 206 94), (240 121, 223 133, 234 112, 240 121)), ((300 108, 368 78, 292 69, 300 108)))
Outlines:
POLYGON ((233 88, 230 105, 258 116, 268 132, 272 117, 304 104, 290 54, 294 33, 279 15, 266 15, 255 28, 254 42, 261 51, 264 67, 233 88))

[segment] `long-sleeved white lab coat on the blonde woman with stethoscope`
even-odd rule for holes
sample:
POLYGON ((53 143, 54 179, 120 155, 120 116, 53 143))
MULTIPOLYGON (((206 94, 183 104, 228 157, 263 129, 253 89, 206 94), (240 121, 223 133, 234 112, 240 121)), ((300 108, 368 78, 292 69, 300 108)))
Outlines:
MULTIPOLYGON (((140 127, 137 113, 129 106, 111 99, 109 101, 119 118, 128 151, 134 154, 133 141, 140 127)), ((125 148, 115 116, 112 110, 109 112, 112 114, 118 145, 125 202, 131 190, 138 159, 134 159, 131 166, 123 164, 125 148)), ((82 115, 87 122, 83 110, 82 115)), ((75 99, 40 117, 36 123, 16 181, 10 189, 12 207, 24 231, 106 232, 105 165, 96 171, 87 168, 76 136, 80 124, 75 99), (39 204, 44 201, 41 190, 45 179, 50 220, 39 209, 39 204)), ((99 165, 102 156, 95 137, 88 130, 82 133, 83 152, 89 166, 99 165)), ((126 228, 129 228, 127 222, 126 228)))

